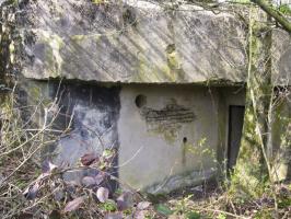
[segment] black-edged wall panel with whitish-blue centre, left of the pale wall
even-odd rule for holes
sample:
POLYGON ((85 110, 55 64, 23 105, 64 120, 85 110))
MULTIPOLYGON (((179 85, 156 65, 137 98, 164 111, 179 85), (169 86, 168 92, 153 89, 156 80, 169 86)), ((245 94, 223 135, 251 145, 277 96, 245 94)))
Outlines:
POLYGON ((60 138, 55 152, 57 164, 77 163, 85 153, 100 153, 106 148, 118 148, 117 120, 119 117, 119 89, 88 84, 66 84, 58 89, 51 84, 50 96, 58 96, 60 114, 54 126, 63 130, 70 119, 69 136, 60 138))

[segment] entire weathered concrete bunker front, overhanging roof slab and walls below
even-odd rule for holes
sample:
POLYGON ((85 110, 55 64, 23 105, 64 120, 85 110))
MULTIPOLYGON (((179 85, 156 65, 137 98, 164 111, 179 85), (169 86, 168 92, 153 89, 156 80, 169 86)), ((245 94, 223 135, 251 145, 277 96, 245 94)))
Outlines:
MULTIPOLYGON (((60 100, 56 127, 73 115, 49 149, 54 162, 115 148, 120 181, 151 193, 235 164, 247 74, 246 23, 235 13, 90 0, 38 0, 23 11, 27 102, 60 100)), ((272 81, 289 84, 291 44, 276 28, 272 50, 272 81)))

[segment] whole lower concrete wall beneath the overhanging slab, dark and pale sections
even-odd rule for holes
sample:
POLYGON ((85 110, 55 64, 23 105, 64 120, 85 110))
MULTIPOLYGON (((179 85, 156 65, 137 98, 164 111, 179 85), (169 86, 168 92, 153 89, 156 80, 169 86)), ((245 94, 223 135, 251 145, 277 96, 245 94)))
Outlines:
POLYGON ((55 154, 54 162, 74 165, 85 153, 114 147, 119 180, 151 193, 167 193, 221 174, 228 154, 229 106, 243 105, 245 92, 244 88, 185 84, 28 84, 30 101, 39 94, 43 100, 61 100, 55 129, 65 128, 74 114, 69 135, 44 155, 55 154))

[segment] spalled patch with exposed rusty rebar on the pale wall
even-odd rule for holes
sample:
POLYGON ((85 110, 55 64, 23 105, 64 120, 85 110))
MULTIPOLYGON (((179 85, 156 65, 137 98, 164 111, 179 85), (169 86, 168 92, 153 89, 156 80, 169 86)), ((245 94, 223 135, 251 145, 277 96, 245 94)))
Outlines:
POLYGON ((175 100, 161 110, 143 106, 140 114, 147 123, 148 131, 162 135, 167 143, 178 138, 177 130, 183 124, 193 123, 196 117, 191 110, 178 105, 175 100))

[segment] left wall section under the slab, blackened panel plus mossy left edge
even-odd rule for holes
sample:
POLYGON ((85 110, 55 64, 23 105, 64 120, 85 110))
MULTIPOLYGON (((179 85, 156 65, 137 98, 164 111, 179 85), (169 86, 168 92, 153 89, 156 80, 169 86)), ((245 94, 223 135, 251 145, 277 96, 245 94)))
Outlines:
MULTIPOLYGON (((22 105, 30 106, 31 111, 23 112, 27 114, 25 119, 32 119, 38 127, 47 124, 46 138, 56 139, 42 148, 42 160, 49 159, 59 166, 73 168, 86 153, 102 154, 105 149, 119 148, 119 87, 23 80, 21 89, 22 105)), ((116 157, 113 166, 117 166, 117 162, 116 157)), ((110 171, 117 176, 118 169, 110 171)), ((73 170, 63 177, 81 184, 83 176, 94 173, 96 170, 73 170)), ((113 182, 109 186, 115 185, 113 182)))

